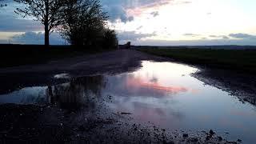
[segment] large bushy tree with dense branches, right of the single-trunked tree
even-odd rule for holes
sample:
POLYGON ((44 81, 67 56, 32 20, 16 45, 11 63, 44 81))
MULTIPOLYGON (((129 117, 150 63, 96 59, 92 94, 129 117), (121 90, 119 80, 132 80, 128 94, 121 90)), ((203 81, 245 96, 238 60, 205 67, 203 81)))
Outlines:
POLYGON ((93 46, 101 43, 107 16, 99 0, 66 0, 60 31, 72 45, 93 46), (99 42, 101 41, 101 42, 99 42))

